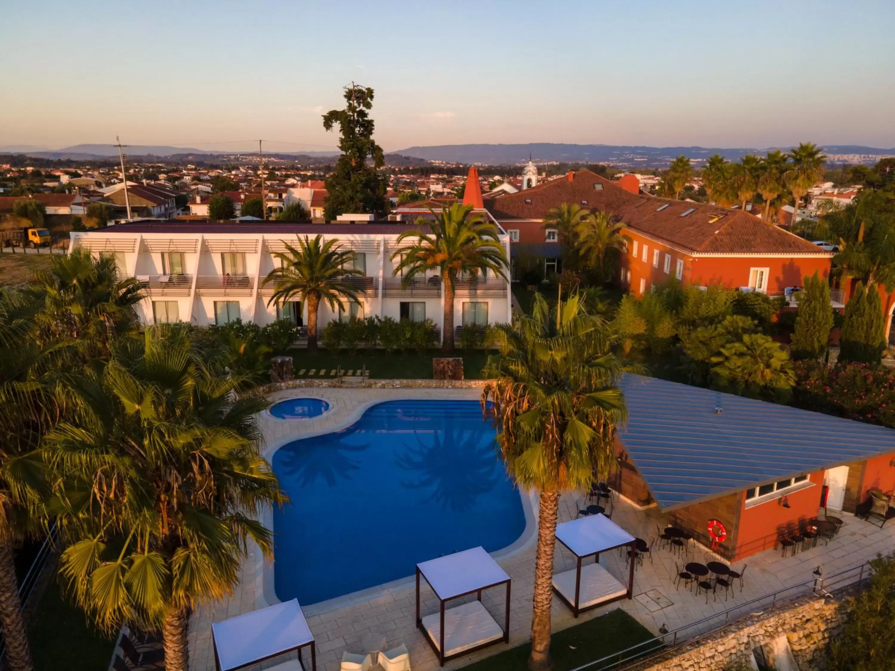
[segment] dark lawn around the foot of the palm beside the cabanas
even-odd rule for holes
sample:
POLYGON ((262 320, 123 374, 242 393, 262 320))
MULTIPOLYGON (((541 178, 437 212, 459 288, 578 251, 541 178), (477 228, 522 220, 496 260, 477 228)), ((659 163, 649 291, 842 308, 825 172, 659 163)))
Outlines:
MULTIPOLYGON (((618 608, 604 616, 553 633, 550 639, 553 671, 569 671, 650 639, 652 633, 649 630, 618 608)), ((519 671, 528 667, 530 651, 531 645, 524 643, 470 664, 464 667, 464 671, 519 671)))

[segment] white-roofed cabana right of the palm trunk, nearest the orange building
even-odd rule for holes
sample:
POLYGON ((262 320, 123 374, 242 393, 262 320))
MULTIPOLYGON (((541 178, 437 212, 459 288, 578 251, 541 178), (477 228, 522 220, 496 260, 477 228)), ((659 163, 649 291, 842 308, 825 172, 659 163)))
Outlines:
POLYGON ((557 540, 577 557, 574 569, 553 576, 553 591, 572 609, 575 617, 585 610, 618 599, 631 599, 634 591, 636 539, 603 514, 588 515, 557 526, 557 540), (600 565, 600 553, 630 546, 630 575, 627 587, 600 565), (594 563, 581 565, 584 557, 595 555, 594 563))

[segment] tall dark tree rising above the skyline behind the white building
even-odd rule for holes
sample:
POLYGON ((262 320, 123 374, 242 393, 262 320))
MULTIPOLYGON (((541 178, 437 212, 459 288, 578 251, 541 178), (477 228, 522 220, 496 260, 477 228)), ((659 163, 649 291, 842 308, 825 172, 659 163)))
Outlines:
POLYGON ((323 128, 331 131, 338 124, 341 139, 336 170, 327 177, 327 203, 323 216, 332 221, 338 215, 366 212, 385 217, 386 181, 377 172, 385 165, 382 148, 373 140, 373 89, 352 83, 345 87, 345 109, 333 109, 323 115, 323 128), (368 163, 372 162, 372 165, 368 163))

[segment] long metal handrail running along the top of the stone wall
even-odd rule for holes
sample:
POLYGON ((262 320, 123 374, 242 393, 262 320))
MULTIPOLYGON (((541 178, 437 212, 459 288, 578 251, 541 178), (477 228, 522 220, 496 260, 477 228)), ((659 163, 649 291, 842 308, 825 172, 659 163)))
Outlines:
POLYGON ((649 659, 649 653, 651 652, 655 654, 668 653, 670 650, 676 650, 685 644, 692 644, 695 641, 701 641, 704 638, 712 635, 712 633, 715 633, 723 627, 736 622, 742 617, 757 615, 756 613, 751 612, 754 610, 754 606, 758 605, 760 602, 766 602, 768 599, 771 599, 771 602, 770 604, 766 605, 774 606, 777 604, 778 600, 784 600, 778 599, 778 597, 784 592, 798 590, 796 593, 789 595, 788 599, 796 599, 798 597, 805 596, 805 594, 809 592, 822 597, 830 597, 832 591, 845 589, 855 582, 857 582, 858 584, 863 582, 865 568, 869 564, 869 562, 862 562, 861 564, 850 566, 837 573, 832 573, 829 576, 815 575, 812 580, 799 582, 795 585, 789 585, 788 587, 781 588, 780 590, 767 592, 760 597, 750 599, 744 603, 738 604, 737 606, 729 607, 727 610, 723 610, 720 613, 715 613, 711 616, 703 617, 701 620, 696 620, 695 622, 692 622, 690 624, 685 624, 684 626, 678 627, 678 629, 671 630, 667 633, 662 633, 659 636, 654 636, 648 641, 642 641, 640 643, 632 645, 629 648, 626 648, 625 650, 619 650, 618 652, 614 652, 611 655, 607 655, 599 659, 594 659, 593 661, 587 662, 580 667, 573 668, 571 671, 584 671, 584 669, 589 669, 589 671, 606 671, 606 669, 624 668, 622 665, 628 662, 636 661, 639 664, 649 659), (846 574, 854 576, 855 573, 857 573, 857 580, 848 580, 848 582, 845 582, 845 579, 842 577, 846 574), (834 581, 835 586, 831 589, 827 589, 831 586, 830 581, 834 581), (809 586, 810 589, 807 589, 809 586), (731 617, 731 615, 736 613, 737 611, 744 612, 731 617), (714 624, 712 624, 713 620, 716 621, 714 624), (694 631, 689 635, 682 635, 682 633, 686 632, 686 630, 694 631), (670 643, 668 642, 669 637, 671 637, 670 643))

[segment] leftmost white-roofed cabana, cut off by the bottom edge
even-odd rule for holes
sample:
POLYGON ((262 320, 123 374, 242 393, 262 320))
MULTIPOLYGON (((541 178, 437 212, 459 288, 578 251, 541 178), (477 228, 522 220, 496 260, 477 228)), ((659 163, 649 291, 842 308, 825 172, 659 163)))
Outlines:
POLYGON ((292 650, 298 651, 304 668, 302 649, 306 646, 311 646, 311 671, 317 671, 314 637, 298 599, 212 624, 211 639, 217 671, 248 667, 292 650))

